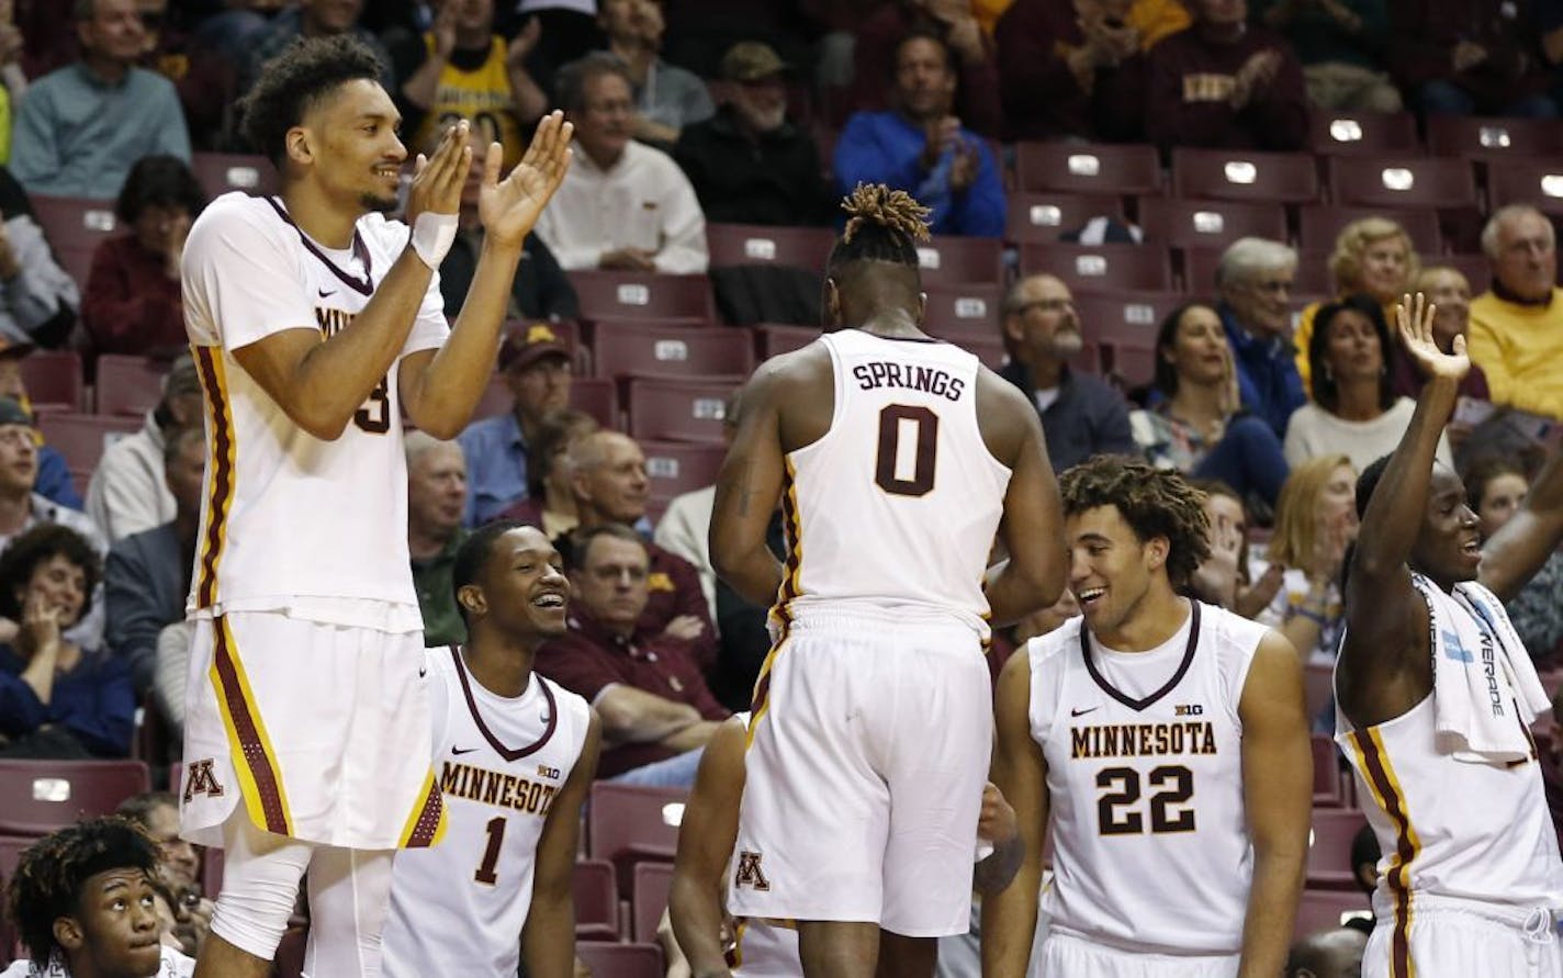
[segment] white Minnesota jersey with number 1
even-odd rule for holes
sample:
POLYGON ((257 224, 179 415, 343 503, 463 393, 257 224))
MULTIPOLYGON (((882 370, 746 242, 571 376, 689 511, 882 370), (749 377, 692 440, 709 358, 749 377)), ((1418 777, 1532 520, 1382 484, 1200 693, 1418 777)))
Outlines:
POLYGON ((536 672, 520 697, 495 695, 455 647, 430 648, 427 662, 447 828, 439 845, 397 853, 383 970, 513 978, 538 839, 580 758, 591 708, 536 672))

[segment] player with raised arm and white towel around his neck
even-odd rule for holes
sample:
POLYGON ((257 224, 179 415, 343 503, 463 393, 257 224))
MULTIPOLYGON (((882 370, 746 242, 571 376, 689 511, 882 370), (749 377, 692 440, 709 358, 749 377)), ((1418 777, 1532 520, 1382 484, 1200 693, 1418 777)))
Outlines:
POLYGON ((1554 456, 1479 547, 1460 477, 1433 464, 1471 369, 1465 341, 1438 348, 1421 294, 1397 319, 1427 383, 1394 455, 1357 483, 1361 530, 1335 664, 1336 741, 1383 850, 1363 976, 1558 978, 1563 861, 1527 730, 1533 700, 1521 694, 1529 656, 1502 601, 1563 539, 1563 466, 1554 456), (1461 700, 1449 683, 1469 670, 1480 672, 1466 705, 1485 717, 1449 725, 1461 700), (1508 756, 1474 750, 1486 722, 1508 756))

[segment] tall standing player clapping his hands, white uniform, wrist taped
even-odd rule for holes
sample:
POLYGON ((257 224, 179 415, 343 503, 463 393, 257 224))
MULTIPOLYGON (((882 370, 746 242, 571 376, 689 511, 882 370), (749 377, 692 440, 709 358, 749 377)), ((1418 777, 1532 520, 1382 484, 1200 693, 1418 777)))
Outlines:
POLYGON ((435 269, 470 164, 458 123, 388 222, 406 158, 380 66, 347 37, 269 62, 244 130, 278 197, 219 197, 184 247, 209 456, 189 611, 183 833, 227 848, 199 978, 269 961, 308 869, 313 975, 378 975, 397 848, 444 825, 406 559, 403 412, 453 437, 494 369, 522 239, 569 166, 545 120, 485 173, 488 228, 450 328, 435 269))

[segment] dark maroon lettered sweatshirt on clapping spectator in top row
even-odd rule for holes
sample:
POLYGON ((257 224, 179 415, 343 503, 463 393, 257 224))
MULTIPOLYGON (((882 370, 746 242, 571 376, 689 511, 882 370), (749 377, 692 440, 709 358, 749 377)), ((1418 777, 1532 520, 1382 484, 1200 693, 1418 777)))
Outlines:
POLYGON ((1308 95, 1302 64, 1286 41, 1249 27, 1235 42, 1207 41, 1199 27, 1150 48, 1146 134, 1160 147, 1300 150, 1308 137, 1308 95), (1254 55, 1274 48, 1280 69, 1243 111, 1227 102, 1232 80, 1254 55))

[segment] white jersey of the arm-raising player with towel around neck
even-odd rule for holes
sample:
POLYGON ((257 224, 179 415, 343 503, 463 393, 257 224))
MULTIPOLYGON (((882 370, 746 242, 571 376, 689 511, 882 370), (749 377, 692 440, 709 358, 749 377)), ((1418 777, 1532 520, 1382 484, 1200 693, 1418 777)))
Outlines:
MULTIPOLYGON (((1444 642, 1463 650, 1496 641, 1463 600, 1425 578, 1418 584, 1455 630, 1435 636, 1435 666, 1444 642)), ((1507 619, 1496 600, 1490 614, 1507 619)), ((1379 919, 1410 926, 1418 895, 1563 909, 1563 861, 1535 751, 1513 766, 1457 761, 1438 748, 1435 719, 1433 695, 1361 730, 1336 711, 1335 741, 1357 772, 1357 795, 1383 853, 1379 919)))

